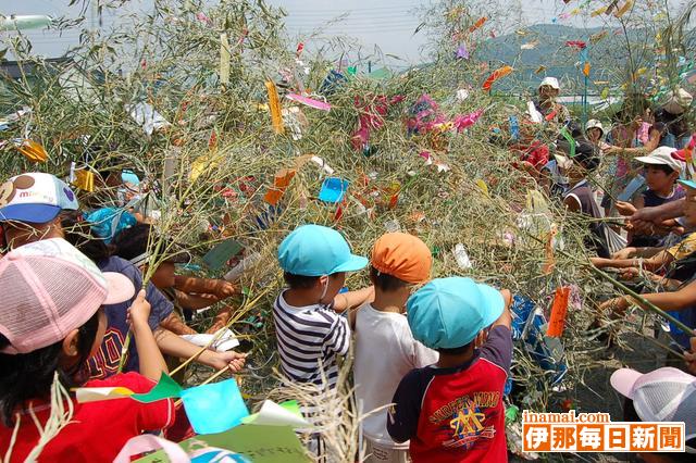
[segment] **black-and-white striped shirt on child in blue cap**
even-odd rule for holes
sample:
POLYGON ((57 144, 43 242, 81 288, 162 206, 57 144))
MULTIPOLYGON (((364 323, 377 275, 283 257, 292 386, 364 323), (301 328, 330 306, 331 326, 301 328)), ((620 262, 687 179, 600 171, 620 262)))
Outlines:
POLYGON ((347 354, 350 347, 348 320, 318 304, 289 305, 283 295, 273 304, 281 370, 294 381, 318 386, 325 375, 333 389, 338 377, 336 355, 347 354))

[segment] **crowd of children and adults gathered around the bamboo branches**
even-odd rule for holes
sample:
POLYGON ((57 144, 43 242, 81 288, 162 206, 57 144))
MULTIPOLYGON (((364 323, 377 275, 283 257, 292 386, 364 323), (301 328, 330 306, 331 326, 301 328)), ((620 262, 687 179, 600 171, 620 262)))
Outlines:
MULTIPOLYGON (((689 232, 696 227, 696 182, 692 127, 684 117, 691 95, 675 89, 656 109, 630 96, 605 129, 598 120, 574 123, 558 102, 559 92, 557 79, 542 82, 512 148, 518 165, 571 215, 596 220, 587 221, 585 242, 595 266, 618 268, 638 292, 657 285, 659 291, 643 297, 695 328, 696 234, 689 232), (551 135, 550 142, 533 124, 551 135), (611 183, 604 185, 598 173, 607 164, 611 183), (602 221, 616 213, 625 217, 626 237, 602 221)), ((116 184, 137 182, 124 171, 116 184)), ((0 190, 7 250, 0 260, 7 298, 0 311, 0 454, 24 461, 36 456, 40 443, 41 461, 109 461, 141 433, 189 435, 185 414, 169 399, 74 403, 72 423, 47 442, 40 441, 38 425, 46 425, 55 404, 55 378, 67 389, 122 386, 144 392, 176 359, 243 370, 244 353, 207 349, 198 355, 200 348, 181 336, 196 334, 191 314, 239 288, 224 279, 176 275, 175 264, 189 260, 186 250, 157 237, 147 217, 83 210, 75 191, 53 175, 25 173, 0 190), (157 265, 150 259, 156 240, 169 250, 157 265)), ((339 359, 353 347, 356 405, 364 415, 369 461, 507 460, 509 290, 461 276, 432 279, 431 250, 406 233, 383 235, 366 258, 355 255, 337 230, 302 225, 282 241, 277 260, 286 284, 273 306, 281 372, 289 381, 331 391, 339 359), (346 274, 365 267, 372 285, 344 292, 346 274)), ((609 347, 616 324, 608 330, 602 324, 624 316, 630 304, 618 298, 599 305, 595 327, 609 347)), ((209 333, 227 329, 234 310, 224 306, 209 333)), ((694 333, 672 324, 669 336, 676 355, 666 359, 669 366, 644 375, 655 377, 654 395, 672 393, 668 384, 675 375, 686 375, 680 380, 696 387, 694 333)), ((619 371, 612 377, 630 399, 626 416, 659 421, 639 403, 647 399, 635 392, 642 380, 636 375, 619 371)), ((696 393, 680 397, 691 401, 680 408, 696 410, 696 393)), ((311 418, 315 411, 304 412, 311 418)), ((670 416, 686 421, 687 446, 696 451, 696 416, 670 416)), ((321 456, 322 436, 313 440, 310 447, 321 456)))

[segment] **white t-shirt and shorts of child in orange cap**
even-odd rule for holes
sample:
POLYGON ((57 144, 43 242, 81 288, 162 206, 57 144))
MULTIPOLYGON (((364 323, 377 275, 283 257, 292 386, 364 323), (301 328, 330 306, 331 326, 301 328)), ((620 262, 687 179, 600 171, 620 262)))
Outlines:
POLYGON ((387 433, 387 409, 394 392, 413 368, 437 362, 436 351, 426 348, 411 334, 406 315, 381 312, 363 305, 356 316, 353 376, 358 409, 366 414, 383 410, 362 422, 363 435, 370 440, 393 448, 408 449, 409 442, 396 443, 387 433))

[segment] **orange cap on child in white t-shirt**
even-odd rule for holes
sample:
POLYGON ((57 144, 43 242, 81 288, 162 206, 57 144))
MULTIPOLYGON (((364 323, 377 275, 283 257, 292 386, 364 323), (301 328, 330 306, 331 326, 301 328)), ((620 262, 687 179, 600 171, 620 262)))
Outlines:
POLYGON ((387 233, 372 248, 372 266, 407 283, 427 281, 432 265, 431 250, 413 235, 387 233))

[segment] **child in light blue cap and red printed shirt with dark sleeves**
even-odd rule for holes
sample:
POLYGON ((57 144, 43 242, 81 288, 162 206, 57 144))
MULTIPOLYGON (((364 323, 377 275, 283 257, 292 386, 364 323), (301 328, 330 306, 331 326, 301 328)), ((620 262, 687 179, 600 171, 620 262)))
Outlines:
POLYGON ((462 277, 435 279, 409 298, 413 337, 439 353, 401 379, 389 410, 387 430, 396 442, 410 439, 413 462, 507 461, 510 302, 510 291, 462 277))

